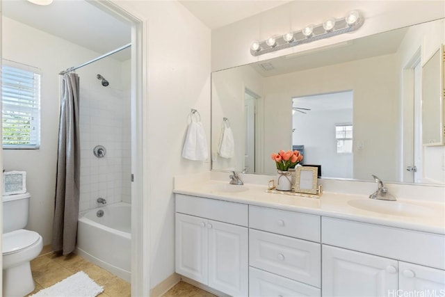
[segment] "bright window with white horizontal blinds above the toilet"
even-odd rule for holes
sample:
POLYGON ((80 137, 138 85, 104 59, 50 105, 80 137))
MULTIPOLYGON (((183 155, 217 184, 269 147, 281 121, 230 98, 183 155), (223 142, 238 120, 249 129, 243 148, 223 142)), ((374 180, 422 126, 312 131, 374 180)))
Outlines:
POLYGON ((40 74, 19 63, 3 61, 3 148, 37 149, 40 145, 40 74))

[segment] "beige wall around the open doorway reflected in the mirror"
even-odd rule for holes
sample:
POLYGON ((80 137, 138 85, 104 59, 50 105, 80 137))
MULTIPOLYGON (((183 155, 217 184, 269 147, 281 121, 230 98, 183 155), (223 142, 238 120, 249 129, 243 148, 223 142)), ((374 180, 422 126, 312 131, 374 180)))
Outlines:
MULTIPOLYGON (((394 55, 386 55, 268 77, 264 81, 264 110, 268 111, 264 113, 264 139, 268 140, 264 152, 290 147, 291 116, 277 115, 290 110, 292 97, 353 90, 354 178, 369 179, 372 173, 384 180, 397 180, 395 71, 394 55), (378 77, 373 75, 378 71, 378 77), (363 143, 360 150, 358 142, 363 143)), ((273 172, 268 154, 264 158, 265 172, 273 172)))

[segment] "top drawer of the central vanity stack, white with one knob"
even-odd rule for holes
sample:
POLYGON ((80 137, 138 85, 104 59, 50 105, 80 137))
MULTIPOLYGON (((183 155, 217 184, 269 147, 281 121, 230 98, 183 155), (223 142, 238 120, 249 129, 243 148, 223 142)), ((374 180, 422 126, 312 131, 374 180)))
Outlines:
POLYGON ((249 227, 320 242, 320 216, 292 211, 249 207, 249 227))

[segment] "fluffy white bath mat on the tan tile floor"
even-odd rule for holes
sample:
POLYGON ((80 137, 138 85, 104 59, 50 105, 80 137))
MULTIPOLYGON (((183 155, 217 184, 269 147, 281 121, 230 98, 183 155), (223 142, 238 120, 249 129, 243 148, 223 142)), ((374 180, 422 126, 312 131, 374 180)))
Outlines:
POLYGON ((51 287, 41 289, 31 297, 95 297, 103 291, 104 287, 96 284, 83 271, 79 271, 51 287))

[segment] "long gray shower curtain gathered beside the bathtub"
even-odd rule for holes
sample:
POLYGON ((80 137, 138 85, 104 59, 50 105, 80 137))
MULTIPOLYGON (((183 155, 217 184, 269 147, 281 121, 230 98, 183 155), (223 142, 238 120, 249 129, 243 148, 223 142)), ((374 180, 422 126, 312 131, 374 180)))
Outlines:
POLYGON ((80 179, 79 76, 64 74, 58 129, 54 252, 67 255, 76 246, 80 179))

